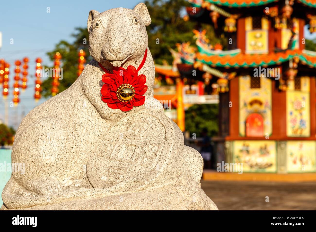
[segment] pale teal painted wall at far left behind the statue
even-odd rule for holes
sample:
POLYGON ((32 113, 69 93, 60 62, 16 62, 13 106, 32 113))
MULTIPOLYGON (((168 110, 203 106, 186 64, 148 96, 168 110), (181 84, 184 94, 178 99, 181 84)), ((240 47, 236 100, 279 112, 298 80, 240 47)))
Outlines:
MULTIPOLYGON (((11 150, 0 149, 0 196, 5 184, 11 177, 11 167, 8 169, 8 164, 11 165, 11 150)), ((3 204, 2 198, 0 198, 0 207, 3 204)))

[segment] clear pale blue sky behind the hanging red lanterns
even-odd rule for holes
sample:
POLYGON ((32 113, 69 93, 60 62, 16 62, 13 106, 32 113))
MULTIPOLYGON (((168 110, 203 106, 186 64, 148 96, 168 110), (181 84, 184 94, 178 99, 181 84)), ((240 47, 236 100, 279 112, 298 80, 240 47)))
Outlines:
MULTIPOLYGON (((93 1, 61 1, 61 0, 27 0, 27 1, 1 1, 0 7, 0 31, 2 32, 2 48, 0 57, 10 63, 10 81, 8 102, 13 98, 13 74, 14 62, 23 57, 29 57, 28 88, 25 92, 20 91, 20 104, 9 107, 9 125, 17 127, 21 119, 37 104, 47 99, 42 98, 38 103, 34 101, 34 74, 35 59, 41 57, 43 64, 51 62, 46 56, 54 45, 64 39, 72 41, 70 34, 75 27, 87 27, 89 11, 94 9, 99 12, 105 10, 125 7, 134 8, 141 0, 93 0, 93 1), (46 12, 50 7, 50 13, 46 12), (13 39, 13 45, 10 44, 13 39)), ((4 120, 4 100, 2 99, 2 88, 0 89, 0 120, 4 120)))

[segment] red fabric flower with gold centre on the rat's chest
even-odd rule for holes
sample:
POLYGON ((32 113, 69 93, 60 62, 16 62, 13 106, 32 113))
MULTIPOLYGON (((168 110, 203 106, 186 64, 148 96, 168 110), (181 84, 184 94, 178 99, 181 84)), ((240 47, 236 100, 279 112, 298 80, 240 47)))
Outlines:
POLYGON ((113 69, 113 74, 105 73, 102 75, 105 83, 101 88, 101 98, 108 107, 129 111, 134 107, 143 105, 147 91, 146 76, 137 74, 134 66, 127 69, 119 67, 113 69))

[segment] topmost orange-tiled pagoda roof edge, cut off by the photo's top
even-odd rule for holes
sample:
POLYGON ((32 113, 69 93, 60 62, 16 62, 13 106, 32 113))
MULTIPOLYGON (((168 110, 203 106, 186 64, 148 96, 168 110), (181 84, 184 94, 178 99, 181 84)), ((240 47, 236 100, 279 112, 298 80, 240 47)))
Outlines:
MULTIPOLYGON (((279 0, 188 0, 191 5, 201 7, 203 2, 209 2, 219 6, 226 7, 254 7, 262 6, 279 0)), ((309 7, 316 7, 316 0, 297 0, 309 7)))

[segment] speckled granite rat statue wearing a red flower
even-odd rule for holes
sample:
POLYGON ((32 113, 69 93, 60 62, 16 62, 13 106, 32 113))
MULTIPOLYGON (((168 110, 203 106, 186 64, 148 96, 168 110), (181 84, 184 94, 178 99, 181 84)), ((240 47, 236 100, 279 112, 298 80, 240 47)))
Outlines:
POLYGON ((12 163, 25 173, 12 173, 3 210, 217 209, 200 188, 201 155, 153 98, 150 23, 144 3, 89 12, 94 59, 21 122, 12 163))

